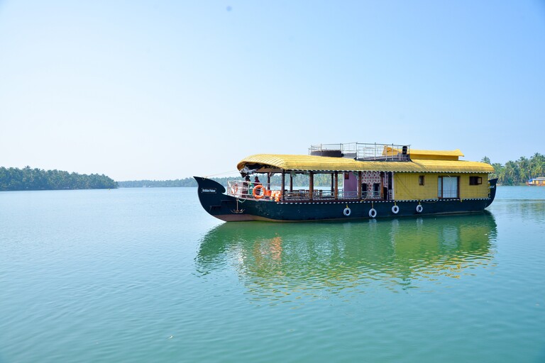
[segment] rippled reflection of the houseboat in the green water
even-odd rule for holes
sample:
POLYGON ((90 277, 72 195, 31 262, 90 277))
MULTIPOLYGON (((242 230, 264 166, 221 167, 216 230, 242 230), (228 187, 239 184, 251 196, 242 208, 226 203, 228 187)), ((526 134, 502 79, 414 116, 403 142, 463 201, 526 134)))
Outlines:
POLYGON ((351 223, 224 223, 204 236, 196 264, 203 277, 236 270, 257 298, 397 290, 489 267, 496 234, 487 211, 351 223))

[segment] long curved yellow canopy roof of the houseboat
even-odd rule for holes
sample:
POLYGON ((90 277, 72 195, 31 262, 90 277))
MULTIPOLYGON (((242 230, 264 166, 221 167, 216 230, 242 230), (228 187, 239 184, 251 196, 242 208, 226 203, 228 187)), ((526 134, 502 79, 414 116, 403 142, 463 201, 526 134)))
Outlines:
MULTIPOLYGON (((459 150, 458 150, 459 152, 459 150)), ((419 172, 419 173, 492 173, 494 168, 484 162, 463 160, 412 160, 409 162, 358 161, 346 157, 312 155, 256 154, 237 164, 238 170, 258 169, 260 172, 278 169, 313 172, 419 172)))

